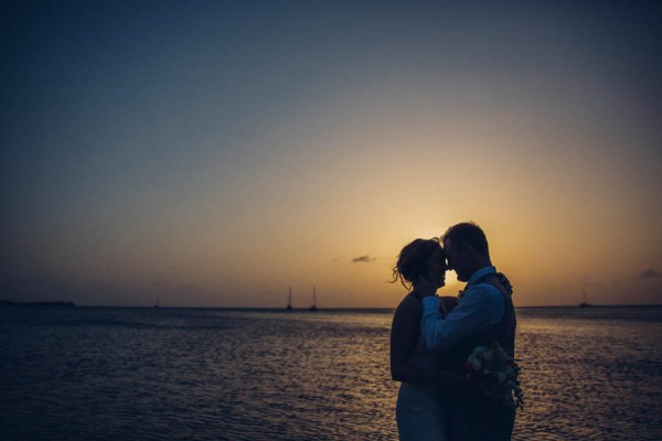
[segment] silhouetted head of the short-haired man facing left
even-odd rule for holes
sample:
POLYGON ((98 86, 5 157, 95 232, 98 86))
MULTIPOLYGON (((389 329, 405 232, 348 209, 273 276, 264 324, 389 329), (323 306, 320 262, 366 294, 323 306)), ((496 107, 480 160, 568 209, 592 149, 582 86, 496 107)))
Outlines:
POLYGON ((455 270, 458 280, 466 282, 479 269, 492 265, 488 238, 478 225, 465 222, 448 228, 444 236, 448 269, 455 270))

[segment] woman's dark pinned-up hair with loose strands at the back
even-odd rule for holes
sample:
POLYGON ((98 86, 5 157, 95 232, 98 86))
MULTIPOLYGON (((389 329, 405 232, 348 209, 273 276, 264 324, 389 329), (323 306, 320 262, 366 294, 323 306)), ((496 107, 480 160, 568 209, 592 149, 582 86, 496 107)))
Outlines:
POLYGON ((393 267, 393 280, 395 283, 399 280, 407 290, 412 289, 412 282, 420 277, 427 277, 428 265, 433 252, 440 249, 439 238, 415 239, 405 245, 397 257, 397 262, 393 267))

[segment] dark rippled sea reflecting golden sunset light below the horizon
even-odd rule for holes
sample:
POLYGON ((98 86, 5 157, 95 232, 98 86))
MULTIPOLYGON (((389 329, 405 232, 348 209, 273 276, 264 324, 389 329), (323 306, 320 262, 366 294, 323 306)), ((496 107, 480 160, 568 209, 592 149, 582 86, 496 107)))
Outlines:
MULTIPOLYGON (((662 440, 662 308, 517 314, 514 440, 662 440)), ((0 309, 0 439, 396 440, 391 319, 0 309)))

